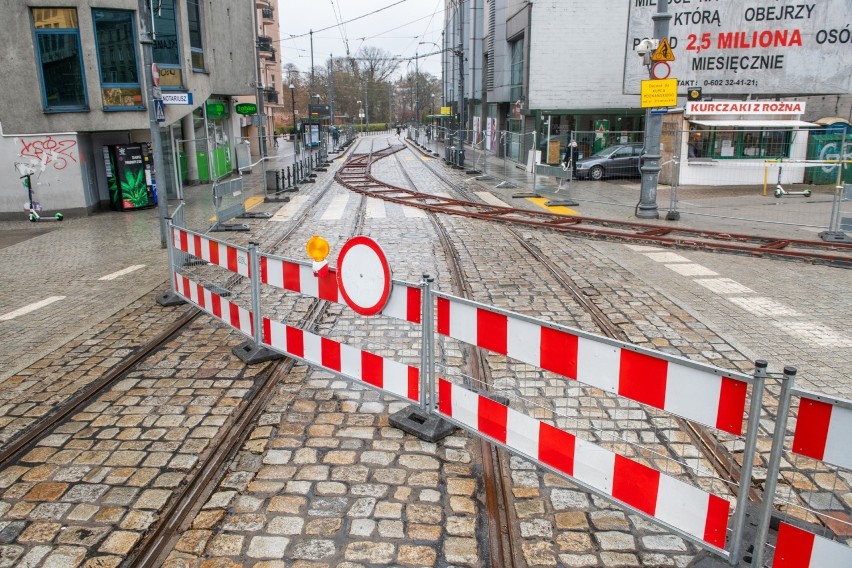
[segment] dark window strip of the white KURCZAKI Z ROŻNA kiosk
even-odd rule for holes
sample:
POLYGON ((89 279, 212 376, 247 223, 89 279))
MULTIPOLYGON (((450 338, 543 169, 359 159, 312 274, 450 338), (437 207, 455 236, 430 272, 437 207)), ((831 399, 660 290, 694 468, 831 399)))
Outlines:
POLYGON ((789 130, 720 130, 699 128, 689 132, 689 158, 776 159, 790 155, 789 130))

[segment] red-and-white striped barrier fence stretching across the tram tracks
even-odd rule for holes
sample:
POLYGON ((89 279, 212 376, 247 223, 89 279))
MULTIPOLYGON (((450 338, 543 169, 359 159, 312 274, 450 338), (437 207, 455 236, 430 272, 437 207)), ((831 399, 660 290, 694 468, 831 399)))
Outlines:
MULTIPOLYGON (((762 418, 765 362, 757 363, 753 375, 720 369, 437 292, 432 290, 428 277, 419 284, 398 280, 391 283, 389 301, 381 315, 415 326, 421 338, 419 364, 398 361, 353 346, 351 336, 338 341, 287 323, 275 307, 280 301, 270 301, 268 295, 267 305, 261 305, 261 285, 278 293, 347 305, 335 270, 316 276, 309 263, 263 253, 256 245, 238 247, 174 225, 170 234, 170 272, 176 293, 251 338, 241 347, 244 352, 267 350, 294 357, 384 394, 415 402, 430 416, 444 418, 473 435, 500 444, 732 565, 740 560, 762 418), (176 252, 205 264, 177 263, 176 252), (232 280, 230 287, 222 286, 218 283, 221 277, 217 280, 209 274, 217 269, 241 277, 242 283, 235 287, 232 280), (741 484, 732 486, 700 471, 693 465, 694 460, 671 460, 653 446, 643 447, 635 440, 607 441, 598 435, 569 432, 560 422, 573 420, 572 416, 555 408, 552 415, 556 424, 551 424, 554 420, 542 420, 534 398, 513 396, 505 402, 498 401, 492 394, 472 387, 464 377, 449 373, 441 376, 436 372, 434 352, 439 337, 444 338, 443 342, 456 341, 506 357, 507 364, 523 365, 527 374, 532 367, 550 377, 551 382, 556 379, 561 384, 582 383, 600 389, 617 397, 620 408, 627 405, 629 410, 629 405, 633 405, 637 412, 653 413, 654 420, 657 416, 682 417, 713 429, 731 446, 743 448, 741 484)), ((408 357, 415 355, 409 353, 408 357)), ((516 390, 523 395, 535 389, 520 384, 516 390)), ((811 396, 793 392, 803 399, 811 396)), ((788 399, 782 396, 783 400, 788 399)), ((848 467, 852 454, 848 444, 842 445, 838 432, 844 428, 848 431, 852 424, 852 412, 848 410, 852 403, 835 400, 831 408, 826 430, 828 449, 820 457, 826 461, 846 460, 839 463, 848 467), (833 413, 837 408, 842 412, 835 423, 833 413)), ((825 423, 824 409, 820 412, 825 423)), ((778 422, 784 417, 786 409, 779 414, 778 422)), ((799 421, 807 424, 802 411, 799 421)), ((783 426, 780 428, 783 432, 783 426)), ((810 436, 807 440, 811 441, 810 436)), ((778 451, 776 443, 767 480, 778 477, 778 451)), ((795 441, 794 451, 807 453, 799 450, 795 441)), ((768 507, 764 509, 761 522, 768 524, 768 507)), ((782 550, 785 535, 781 533, 777 545, 782 550)), ((847 549, 844 551, 848 554, 847 549)))

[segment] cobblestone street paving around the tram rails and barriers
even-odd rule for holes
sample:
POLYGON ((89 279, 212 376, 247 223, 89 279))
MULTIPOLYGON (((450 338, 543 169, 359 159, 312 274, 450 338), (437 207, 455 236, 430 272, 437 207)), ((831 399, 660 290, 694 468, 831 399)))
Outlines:
MULTIPOLYGON (((387 138, 368 139, 378 149, 387 138)), ((399 157, 418 188, 452 191, 431 176, 421 158, 399 157)), ((404 186, 393 160, 377 162, 374 174, 404 186)), ((381 243, 394 277, 416 282, 429 273, 440 289, 451 291, 444 252, 422 212, 362 198, 330 179, 331 172, 321 174, 280 210, 267 204, 270 211, 279 210, 278 220, 251 221, 250 234, 228 237, 240 244, 254 239, 263 250, 274 245, 277 254, 305 258, 304 243, 322 234, 332 244, 334 259, 363 202, 363 232, 381 243), (279 243, 292 216, 319 194, 308 221, 279 243)), ((0 315, 31 301, 24 301, 28 291, 36 299, 62 291, 74 306, 70 317, 62 300, 0 321, 4 336, 7 330, 21 333, 33 351, 29 360, 8 342, 0 346, 0 361, 12 362, 13 368, 5 372, 2 367, 5 376, 0 375, 5 378, 0 379, 0 421, 5 420, 0 445, 182 311, 159 308, 151 299, 154 291, 165 289, 166 274, 165 255, 156 249, 155 220, 150 212, 72 220, 61 230, 0 249, 7 266, 15 268, 4 270, 0 289, 18 299, 4 293, 0 315), (140 236, 119 233, 116 225, 122 222, 131 225, 129 234, 140 236), (127 239, 121 240, 129 251, 124 256, 111 239, 116 234, 127 239), (32 253, 50 262, 29 270, 22 256, 32 253), (146 266, 113 281, 97 280, 138 264, 146 266), (52 270, 61 266, 64 279, 52 270), (88 294, 93 288, 101 298, 88 294), (65 383, 63 365, 71 371, 65 383)), ((441 222, 475 299, 596 331, 588 315, 562 297, 558 284, 529 261, 504 229, 457 217, 441 222)), ((849 396, 850 343, 843 323, 850 315, 844 302, 847 271, 692 251, 677 253, 682 260, 664 256, 670 250, 529 229, 522 234, 556 259, 631 341, 745 372, 755 358, 769 359, 773 371, 794 364, 803 385, 849 396), (809 291, 807 297, 803 290, 809 291)), ((241 286, 235 288, 238 298, 243 297, 241 286)), ((263 294, 266 313, 292 319, 304 312, 302 300, 281 298, 266 288, 263 294)), ((334 307, 317 328, 331 338, 418 364, 417 332, 386 318, 363 324, 334 307)), ((240 339, 202 316, 191 333, 72 417, 19 464, 0 471, 0 566, 118 565, 187 472, 212 451, 234 409, 254 388, 258 371, 230 353, 240 339)), ((440 371, 463 379, 457 342, 443 341, 440 347, 440 371)), ((566 388, 554 377, 505 359, 489 361, 502 379, 500 388, 523 394, 542 409, 541 418, 620 451, 635 451, 625 440, 656 449, 668 442, 674 456, 701 465, 670 421, 611 399, 593 400, 587 391, 566 388), (556 402, 568 400, 577 406, 556 402), (614 433, 623 438, 612 438, 614 433)), ((388 414, 400 407, 374 391, 297 365, 219 487, 180 534, 167 565, 487 565, 478 444, 462 432, 438 444, 404 435, 387 424, 388 414)), ((661 467, 675 467, 668 458, 661 460, 661 467)), ((507 472, 522 565, 685 566, 696 553, 683 539, 524 460, 511 458, 507 472)), ((825 496, 828 489, 841 495, 847 512, 852 507, 852 480, 838 486, 836 480, 811 479, 814 487, 823 488, 814 493, 825 496), (834 486, 825 488, 827 483, 834 486)), ((711 477, 698 482, 718 483, 711 477)))

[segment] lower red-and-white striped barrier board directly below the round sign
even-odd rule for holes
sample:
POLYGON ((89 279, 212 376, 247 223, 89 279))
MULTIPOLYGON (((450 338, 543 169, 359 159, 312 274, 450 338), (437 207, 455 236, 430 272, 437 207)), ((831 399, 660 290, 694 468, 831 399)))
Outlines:
POLYGON ((280 353, 303 359, 396 396, 420 400, 420 372, 368 351, 263 318, 263 342, 280 353))

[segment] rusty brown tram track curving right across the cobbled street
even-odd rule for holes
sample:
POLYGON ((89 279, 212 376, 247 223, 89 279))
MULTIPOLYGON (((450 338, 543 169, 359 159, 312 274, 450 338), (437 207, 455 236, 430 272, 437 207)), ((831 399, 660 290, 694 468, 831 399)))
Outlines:
POLYGON ((371 175, 370 167, 374 161, 399 152, 405 147, 392 146, 372 155, 353 156, 341 165, 335 174, 335 180, 358 193, 436 213, 542 227, 606 240, 638 241, 647 245, 746 254, 852 268, 852 244, 850 243, 719 233, 594 217, 566 217, 545 211, 500 207, 429 195, 384 183, 371 175))

